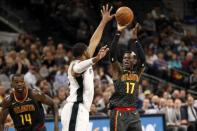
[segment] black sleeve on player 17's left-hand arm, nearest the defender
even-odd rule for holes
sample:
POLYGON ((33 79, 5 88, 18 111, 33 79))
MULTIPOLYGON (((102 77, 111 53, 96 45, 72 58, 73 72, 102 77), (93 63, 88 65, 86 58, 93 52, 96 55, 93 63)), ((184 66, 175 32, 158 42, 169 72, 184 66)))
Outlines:
POLYGON ((116 32, 114 38, 113 38, 113 41, 110 45, 110 61, 112 63, 114 63, 115 61, 117 61, 117 44, 118 44, 118 40, 120 38, 120 32, 116 32))

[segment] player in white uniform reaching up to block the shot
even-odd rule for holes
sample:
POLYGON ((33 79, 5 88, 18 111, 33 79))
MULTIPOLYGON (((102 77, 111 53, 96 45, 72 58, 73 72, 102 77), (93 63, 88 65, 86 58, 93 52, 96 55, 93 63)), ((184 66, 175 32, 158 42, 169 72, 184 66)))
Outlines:
POLYGON ((61 113, 62 131, 87 131, 89 111, 94 96, 94 73, 92 65, 101 60, 109 50, 102 47, 96 57, 95 49, 100 42, 105 25, 113 18, 112 7, 103 6, 102 20, 90 39, 89 46, 77 43, 73 47, 75 60, 70 63, 68 78, 70 95, 61 113))

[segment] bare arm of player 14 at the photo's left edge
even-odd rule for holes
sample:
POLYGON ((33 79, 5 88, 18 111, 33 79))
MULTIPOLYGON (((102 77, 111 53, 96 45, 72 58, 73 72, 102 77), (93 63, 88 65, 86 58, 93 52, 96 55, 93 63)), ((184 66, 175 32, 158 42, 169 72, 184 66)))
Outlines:
POLYGON ((4 122, 7 118, 7 115, 9 114, 9 110, 8 110, 9 98, 10 97, 5 98, 1 103, 2 110, 0 113, 0 131, 4 130, 4 122))

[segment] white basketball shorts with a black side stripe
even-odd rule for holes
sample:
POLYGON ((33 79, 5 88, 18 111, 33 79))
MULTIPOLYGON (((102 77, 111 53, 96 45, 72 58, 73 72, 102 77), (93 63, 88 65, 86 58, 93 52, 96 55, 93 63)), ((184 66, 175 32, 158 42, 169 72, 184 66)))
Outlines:
POLYGON ((66 103, 61 113, 62 131, 87 131, 89 111, 83 104, 66 103))

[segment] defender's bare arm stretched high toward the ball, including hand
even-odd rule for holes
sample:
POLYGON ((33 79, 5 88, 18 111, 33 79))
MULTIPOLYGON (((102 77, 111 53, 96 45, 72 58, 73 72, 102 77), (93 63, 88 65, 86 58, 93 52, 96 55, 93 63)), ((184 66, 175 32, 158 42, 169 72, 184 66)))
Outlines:
POLYGON ((112 10, 112 7, 109 7, 108 5, 103 6, 101 13, 102 13, 102 20, 99 24, 99 26, 97 27, 97 29, 95 30, 94 34, 92 35, 91 39, 90 39, 90 43, 88 46, 88 52, 90 54, 90 57, 92 57, 94 55, 94 52, 96 50, 97 45, 99 44, 102 34, 103 34, 103 30, 106 26, 106 24, 113 18, 114 15, 110 15, 112 10))

